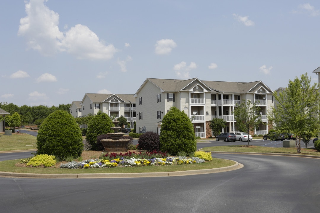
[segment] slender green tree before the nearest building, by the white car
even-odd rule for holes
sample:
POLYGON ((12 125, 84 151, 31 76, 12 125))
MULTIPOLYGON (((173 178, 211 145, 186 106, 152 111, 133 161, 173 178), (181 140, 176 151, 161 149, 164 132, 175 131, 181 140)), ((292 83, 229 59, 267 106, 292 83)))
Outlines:
MULTIPOLYGON (((250 133, 254 131, 259 124, 262 122, 259 114, 256 114, 260 111, 260 107, 256 103, 251 104, 250 100, 242 100, 243 102, 235 107, 233 110, 233 115, 236 120, 236 125, 241 132, 250 133)), ((249 146, 248 140, 248 146, 249 146)))

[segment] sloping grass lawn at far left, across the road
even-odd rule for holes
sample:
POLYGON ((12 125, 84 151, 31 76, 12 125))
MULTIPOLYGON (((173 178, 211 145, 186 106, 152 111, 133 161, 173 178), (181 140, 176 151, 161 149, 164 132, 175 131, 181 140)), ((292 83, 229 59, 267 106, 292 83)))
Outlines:
POLYGON ((0 151, 36 149, 37 138, 26 133, 0 133, 0 151))

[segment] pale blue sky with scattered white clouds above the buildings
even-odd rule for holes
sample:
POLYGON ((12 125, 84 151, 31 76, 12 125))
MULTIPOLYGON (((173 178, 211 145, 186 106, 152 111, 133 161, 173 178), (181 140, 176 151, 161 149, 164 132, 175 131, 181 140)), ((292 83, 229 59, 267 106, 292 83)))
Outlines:
POLYGON ((319 1, 0 1, 0 102, 134 94, 146 78, 272 90, 319 62, 319 1))

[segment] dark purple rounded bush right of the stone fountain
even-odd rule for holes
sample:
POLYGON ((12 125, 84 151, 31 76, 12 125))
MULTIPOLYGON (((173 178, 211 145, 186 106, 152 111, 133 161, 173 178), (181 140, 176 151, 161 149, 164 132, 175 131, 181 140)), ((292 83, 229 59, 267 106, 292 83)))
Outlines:
POLYGON ((147 150, 149 152, 160 150, 160 139, 159 135, 154 132, 143 133, 138 141, 138 149, 147 150))

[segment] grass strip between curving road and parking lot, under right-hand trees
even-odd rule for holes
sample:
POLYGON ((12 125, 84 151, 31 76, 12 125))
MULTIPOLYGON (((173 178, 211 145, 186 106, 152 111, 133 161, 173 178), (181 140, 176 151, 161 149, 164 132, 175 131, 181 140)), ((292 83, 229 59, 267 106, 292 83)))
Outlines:
POLYGON ((234 146, 217 146, 205 147, 202 151, 218 151, 218 152, 260 152, 260 153, 284 153, 284 154, 297 154, 297 155, 314 155, 320 156, 320 152, 315 148, 301 148, 301 153, 297 153, 297 148, 275 148, 275 147, 260 147, 260 146, 247 146, 247 145, 234 145, 234 146))

